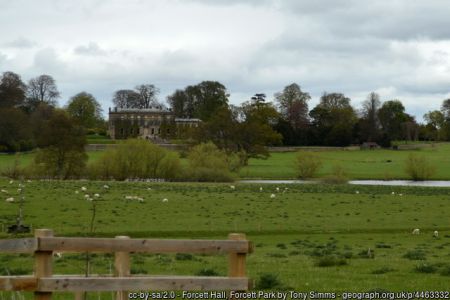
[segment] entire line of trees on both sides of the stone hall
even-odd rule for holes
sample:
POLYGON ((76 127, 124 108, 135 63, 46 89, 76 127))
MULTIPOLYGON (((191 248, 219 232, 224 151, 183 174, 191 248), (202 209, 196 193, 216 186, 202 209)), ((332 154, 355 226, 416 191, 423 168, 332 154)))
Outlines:
MULTIPOLYGON (((137 85, 113 93, 112 102, 120 108, 146 109, 164 106, 153 84, 137 85)), ((319 103, 309 108, 311 96, 292 83, 268 101, 264 93, 236 106, 229 103, 226 87, 217 81, 202 81, 177 89, 167 104, 178 118, 199 118, 198 128, 172 128, 162 124, 163 138, 179 138, 194 143, 213 141, 228 152, 243 151, 249 156, 267 155, 268 145, 347 146, 373 142, 390 146, 393 140, 450 140, 450 99, 441 109, 427 112, 424 124, 406 113, 400 100, 381 102, 370 93, 355 108, 342 93, 325 92, 319 103), (167 129, 167 130, 165 130, 167 129)), ((67 105, 58 108, 56 81, 39 75, 25 83, 20 75, 4 72, 0 76, 0 151, 24 151, 51 145, 53 116, 64 115, 82 132, 106 135, 106 122, 95 97, 80 92, 67 105)))

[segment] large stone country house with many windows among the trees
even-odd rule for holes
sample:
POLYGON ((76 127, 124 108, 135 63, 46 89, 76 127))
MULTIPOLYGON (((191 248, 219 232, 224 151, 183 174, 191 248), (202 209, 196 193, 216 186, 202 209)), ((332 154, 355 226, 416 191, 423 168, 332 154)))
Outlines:
POLYGON ((200 119, 175 118, 170 109, 161 106, 146 109, 115 107, 109 109, 108 133, 112 139, 139 137, 159 140, 161 136, 170 134, 170 130, 197 127, 200 122, 200 119))

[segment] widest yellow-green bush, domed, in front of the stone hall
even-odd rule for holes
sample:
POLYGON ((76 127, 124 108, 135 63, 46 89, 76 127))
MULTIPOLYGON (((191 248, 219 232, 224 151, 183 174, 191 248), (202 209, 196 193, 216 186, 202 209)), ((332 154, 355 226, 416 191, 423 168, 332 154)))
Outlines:
POLYGON ((89 176, 95 179, 175 179, 180 173, 181 162, 176 152, 140 139, 129 139, 107 150, 89 166, 89 176))

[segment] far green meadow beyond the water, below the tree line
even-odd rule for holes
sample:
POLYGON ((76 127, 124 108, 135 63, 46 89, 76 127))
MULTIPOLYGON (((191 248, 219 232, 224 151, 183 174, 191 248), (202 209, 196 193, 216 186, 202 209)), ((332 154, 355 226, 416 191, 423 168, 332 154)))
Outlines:
MULTIPOLYGON (((323 177, 335 165, 341 165, 350 179, 407 179, 405 160, 411 153, 426 156, 436 167, 431 179, 450 179, 450 144, 435 144, 421 150, 331 150, 316 152, 322 161, 317 176, 323 177)), ((89 161, 96 160, 101 151, 88 152, 89 161)), ((294 164, 297 152, 273 152, 264 159, 250 159, 249 165, 240 171, 243 179, 293 179, 296 177, 294 164)), ((29 164, 33 153, 20 154, 22 165, 29 164)), ((0 155, 0 170, 14 163, 15 155, 0 155)))

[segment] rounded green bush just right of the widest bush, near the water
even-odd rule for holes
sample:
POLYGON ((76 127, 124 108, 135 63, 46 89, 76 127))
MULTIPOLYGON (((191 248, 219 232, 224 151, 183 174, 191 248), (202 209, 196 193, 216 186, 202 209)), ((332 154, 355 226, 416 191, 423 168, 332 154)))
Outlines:
POLYGON ((238 156, 230 157, 213 143, 204 143, 191 149, 188 154, 189 169, 186 177, 194 181, 233 181, 238 156))

